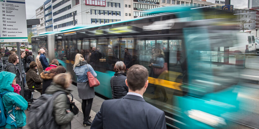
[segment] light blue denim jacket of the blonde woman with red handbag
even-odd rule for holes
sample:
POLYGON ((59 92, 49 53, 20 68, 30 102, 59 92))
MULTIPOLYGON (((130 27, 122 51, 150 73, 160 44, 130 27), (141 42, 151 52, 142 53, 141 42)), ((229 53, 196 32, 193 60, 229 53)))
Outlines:
POLYGON ((92 75, 94 77, 97 77, 97 74, 95 73, 94 69, 92 68, 92 66, 90 64, 87 64, 85 61, 80 61, 74 69, 74 72, 77 76, 77 82, 82 83, 82 82, 88 81, 88 78, 87 78, 88 68, 87 68, 87 66, 89 68, 89 71, 92 73, 92 75))

